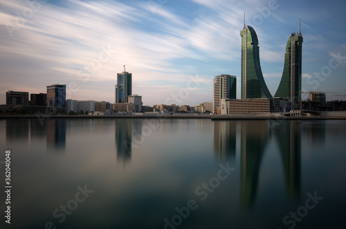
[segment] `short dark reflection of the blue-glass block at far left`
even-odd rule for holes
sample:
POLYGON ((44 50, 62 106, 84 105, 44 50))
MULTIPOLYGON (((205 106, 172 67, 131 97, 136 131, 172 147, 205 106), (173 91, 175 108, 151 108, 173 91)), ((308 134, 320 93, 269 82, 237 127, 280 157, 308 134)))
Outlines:
POLYGON ((66 147, 66 120, 46 120, 47 149, 63 151, 66 147))

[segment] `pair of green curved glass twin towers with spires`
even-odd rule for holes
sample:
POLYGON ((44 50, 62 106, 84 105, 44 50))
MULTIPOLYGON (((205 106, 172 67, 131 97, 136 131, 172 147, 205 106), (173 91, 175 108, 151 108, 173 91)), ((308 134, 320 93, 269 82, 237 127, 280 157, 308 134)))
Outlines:
MULTIPOLYGON (((273 98, 264 81, 260 64, 260 47, 255 30, 244 24, 242 37, 242 99, 273 98)), ((274 97, 301 101, 302 33, 292 33, 284 54, 284 71, 274 97)))

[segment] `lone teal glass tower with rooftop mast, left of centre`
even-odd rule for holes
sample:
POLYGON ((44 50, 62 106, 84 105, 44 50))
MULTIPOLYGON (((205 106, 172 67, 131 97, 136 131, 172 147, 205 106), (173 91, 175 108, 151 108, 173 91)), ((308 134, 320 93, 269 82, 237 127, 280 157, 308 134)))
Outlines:
POLYGON ((132 94, 132 73, 124 72, 117 74, 116 103, 127 103, 127 97, 132 94))

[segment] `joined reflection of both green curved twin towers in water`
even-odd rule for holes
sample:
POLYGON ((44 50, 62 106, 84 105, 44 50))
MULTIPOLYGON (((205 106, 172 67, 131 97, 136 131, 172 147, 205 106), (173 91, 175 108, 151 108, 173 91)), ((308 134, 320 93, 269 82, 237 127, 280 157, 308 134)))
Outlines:
POLYGON ((242 206, 255 203, 261 161, 272 135, 279 146, 287 195, 300 201, 300 121, 282 121, 279 125, 275 121, 244 121, 241 135, 242 206))

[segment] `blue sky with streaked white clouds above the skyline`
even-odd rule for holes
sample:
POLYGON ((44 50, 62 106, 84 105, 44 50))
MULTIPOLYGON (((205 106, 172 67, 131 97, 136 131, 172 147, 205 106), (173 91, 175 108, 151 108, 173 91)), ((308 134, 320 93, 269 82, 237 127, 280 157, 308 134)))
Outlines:
POLYGON ((345 9, 343 0, 0 0, 0 104, 8 90, 57 83, 66 99, 113 103, 124 66, 143 105, 212 101, 218 74, 237 77, 240 99, 244 13, 271 94, 301 19, 302 92, 345 100, 345 9))

